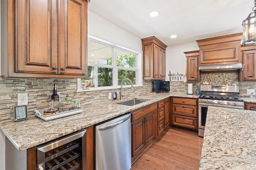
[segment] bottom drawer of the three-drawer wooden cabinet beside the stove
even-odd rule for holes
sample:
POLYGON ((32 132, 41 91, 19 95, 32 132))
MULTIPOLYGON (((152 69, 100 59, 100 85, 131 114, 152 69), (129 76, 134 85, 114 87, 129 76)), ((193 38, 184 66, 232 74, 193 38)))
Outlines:
POLYGON ((197 119, 181 115, 172 115, 172 125, 197 130, 197 119))

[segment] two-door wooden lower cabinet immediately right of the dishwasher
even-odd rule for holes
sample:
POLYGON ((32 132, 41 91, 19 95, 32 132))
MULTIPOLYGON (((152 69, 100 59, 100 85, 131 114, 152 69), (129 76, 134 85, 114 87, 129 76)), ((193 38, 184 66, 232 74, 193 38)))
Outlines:
POLYGON ((145 106, 132 113, 132 163, 157 138, 157 103, 145 106))

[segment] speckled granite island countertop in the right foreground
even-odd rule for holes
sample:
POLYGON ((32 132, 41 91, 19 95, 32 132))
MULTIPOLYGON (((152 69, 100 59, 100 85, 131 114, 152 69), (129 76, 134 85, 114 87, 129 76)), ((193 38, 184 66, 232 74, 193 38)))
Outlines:
POLYGON ((209 106, 199 170, 255 170, 255 121, 255 111, 209 106))

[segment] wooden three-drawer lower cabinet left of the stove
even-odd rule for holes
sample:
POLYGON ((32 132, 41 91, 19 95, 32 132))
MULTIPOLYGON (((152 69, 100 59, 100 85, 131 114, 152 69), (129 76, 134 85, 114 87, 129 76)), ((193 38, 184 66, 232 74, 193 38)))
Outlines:
POLYGON ((171 125, 198 131, 198 99, 172 98, 171 125))

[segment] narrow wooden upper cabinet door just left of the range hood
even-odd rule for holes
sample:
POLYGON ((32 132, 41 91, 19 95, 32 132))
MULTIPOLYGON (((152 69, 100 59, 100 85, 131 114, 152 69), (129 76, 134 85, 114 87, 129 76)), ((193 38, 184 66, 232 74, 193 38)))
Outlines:
POLYGON ((187 80, 188 82, 199 81, 198 56, 187 57, 187 80))

